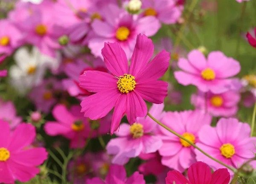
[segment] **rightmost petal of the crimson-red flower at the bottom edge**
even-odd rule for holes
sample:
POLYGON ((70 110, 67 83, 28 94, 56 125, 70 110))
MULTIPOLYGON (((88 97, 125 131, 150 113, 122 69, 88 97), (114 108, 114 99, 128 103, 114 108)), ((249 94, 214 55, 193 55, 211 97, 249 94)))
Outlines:
POLYGON ((227 169, 218 169, 212 173, 210 184, 228 184, 230 181, 230 173, 227 169))

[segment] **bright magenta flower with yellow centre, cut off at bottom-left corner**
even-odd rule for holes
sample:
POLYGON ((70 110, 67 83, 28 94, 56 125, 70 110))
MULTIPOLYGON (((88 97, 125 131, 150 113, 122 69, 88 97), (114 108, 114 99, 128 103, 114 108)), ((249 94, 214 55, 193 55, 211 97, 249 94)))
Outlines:
POLYGON ((29 181, 40 172, 37 168, 47 159, 44 147, 25 149, 35 139, 35 127, 22 123, 11 133, 8 122, 0 120, 0 183, 29 181))

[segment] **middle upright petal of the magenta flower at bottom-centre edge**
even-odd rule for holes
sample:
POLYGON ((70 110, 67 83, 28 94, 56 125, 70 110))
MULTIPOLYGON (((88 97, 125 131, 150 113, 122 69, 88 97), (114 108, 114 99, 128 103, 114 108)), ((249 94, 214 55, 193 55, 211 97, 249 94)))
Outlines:
POLYGON ((126 171, 122 165, 113 164, 110 166, 108 175, 106 176, 106 184, 114 184, 113 178, 117 178, 119 181, 125 181, 126 171))

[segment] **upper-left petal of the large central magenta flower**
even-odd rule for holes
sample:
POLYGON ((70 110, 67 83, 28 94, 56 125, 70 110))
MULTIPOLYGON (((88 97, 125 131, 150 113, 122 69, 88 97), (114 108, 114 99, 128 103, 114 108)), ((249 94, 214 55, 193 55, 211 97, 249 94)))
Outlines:
POLYGON ((118 77, 128 74, 128 60, 125 51, 118 42, 105 42, 104 48, 102 48, 102 56, 106 67, 112 74, 118 77))

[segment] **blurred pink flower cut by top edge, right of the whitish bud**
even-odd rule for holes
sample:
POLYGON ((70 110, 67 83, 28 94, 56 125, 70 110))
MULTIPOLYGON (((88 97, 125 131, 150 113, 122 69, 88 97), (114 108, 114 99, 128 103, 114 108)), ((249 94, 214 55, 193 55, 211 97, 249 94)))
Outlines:
POLYGON ((144 17, 154 16, 164 24, 175 24, 183 11, 183 4, 177 0, 143 0, 144 17))

